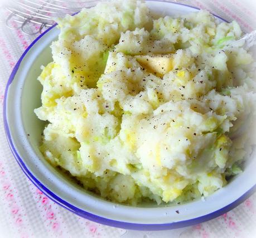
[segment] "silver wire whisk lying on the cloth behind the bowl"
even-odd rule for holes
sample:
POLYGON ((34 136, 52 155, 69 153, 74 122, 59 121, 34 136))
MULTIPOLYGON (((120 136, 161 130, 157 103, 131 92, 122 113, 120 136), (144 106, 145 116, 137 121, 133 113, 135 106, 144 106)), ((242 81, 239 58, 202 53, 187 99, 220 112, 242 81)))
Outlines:
POLYGON ((27 35, 35 35, 42 33, 44 28, 54 25, 53 18, 74 14, 81 8, 94 6, 97 2, 99 1, 10 0, 4 6, 9 12, 6 25, 9 28, 21 28, 27 35), (36 31, 31 31, 31 27, 28 27, 30 24, 39 27, 36 31))

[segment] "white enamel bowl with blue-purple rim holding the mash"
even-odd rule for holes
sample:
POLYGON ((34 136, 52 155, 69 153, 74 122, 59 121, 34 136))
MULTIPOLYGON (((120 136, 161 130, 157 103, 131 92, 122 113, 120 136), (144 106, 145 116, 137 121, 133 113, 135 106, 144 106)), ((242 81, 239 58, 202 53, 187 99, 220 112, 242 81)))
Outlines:
MULTIPOLYGON (((163 15, 198 11, 170 2, 147 1, 147 4, 152 12, 163 15)), ((49 46, 58 34, 59 30, 51 27, 27 48, 9 78, 4 98, 4 125, 9 145, 23 172, 45 195, 67 210, 95 222, 125 229, 163 230, 217 217, 255 191, 256 159, 250 159, 243 173, 205 201, 178 206, 156 206, 153 203, 140 207, 117 205, 86 192, 50 166, 38 150, 44 122, 37 119, 33 109, 41 104, 42 86, 36 78, 40 75, 40 66, 52 60, 49 46)))

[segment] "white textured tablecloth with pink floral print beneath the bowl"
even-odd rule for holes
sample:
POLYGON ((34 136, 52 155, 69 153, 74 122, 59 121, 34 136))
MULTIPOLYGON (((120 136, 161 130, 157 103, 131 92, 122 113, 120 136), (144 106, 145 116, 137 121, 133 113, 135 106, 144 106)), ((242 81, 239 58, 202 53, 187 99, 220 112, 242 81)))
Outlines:
MULTIPOLYGON (((245 32, 256 28, 256 7, 249 5, 254 4, 253 1, 177 2, 207 9, 228 21, 234 19, 245 32)), ((120 237, 124 229, 85 220, 52 202, 23 174, 8 147, 2 122, 4 88, 18 58, 35 37, 21 30, 10 30, 0 22, 0 237, 120 237)), ((183 229, 179 236, 254 237, 255 221, 256 194, 214 220, 183 229)), ((170 237, 171 234, 172 231, 170 237)), ((143 232, 138 232, 137 237, 143 237, 143 232)), ((161 237, 161 232, 154 233, 153 237, 161 237)))

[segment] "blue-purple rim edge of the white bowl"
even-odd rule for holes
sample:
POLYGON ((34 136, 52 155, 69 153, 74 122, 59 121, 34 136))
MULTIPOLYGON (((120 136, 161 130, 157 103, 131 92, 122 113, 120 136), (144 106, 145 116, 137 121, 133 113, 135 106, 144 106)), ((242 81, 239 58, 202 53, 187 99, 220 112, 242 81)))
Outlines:
MULTIPOLYGON (((162 0, 147 0, 147 1, 165 2, 165 1, 162 1, 162 0)), ((178 4, 178 5, 182 5, 182 6, 186 6, 186 7, 190 7, 190 8, 194 8, 194 9, 198 9, 198 10, 200 9, 200 8, 192 7, 192 6, 189 6, 187 4, 182 4, 182 3, 176 3, 176 2, 169 2, 169 3, 178 4)), ((224 22, 228 22, 225 19, 223 19, 223 18, 221 18, 219 16, 216 16, 215 14, 213 14, 213 15, 216 18, 219 18, 220 20, 222 20, 224 22)), ((31 45, 28 46, 28 48, 23 52, 22 56, 20 57, 20 59, 18 60, 18 62, 15 65, 15 67, 13 68, 11 75, 9 76, 9 80, 7 82, 6 90, 5 90, 5 93, 4 93, 4 103, 3 103, 4 130, 6 132, 7 141, 8 141, 9 147, 11 148, 12 154, 15 157, 15 159, 16 159, 17 163, 19 164, 19 166, 21 167, 22 171, 26 174, 26 176, 47 197, 49 197, 52 201, 56 202, 60 206, 62 206, 64 208, 66 208, 67 210, 75 213, 76 215, 79 215, 81 217, 84 217, 84 218, 86 218, 88 220, 91 220, 91 221, 94 221, 94 222, 98 222, 100 224, 108 225, 108 226, 114 226, 114 227, 119 227, 119 228, 123 228, 123 229, 148 230, 149 231, 149 230, 178 229, 178 228, 181 228, 181 227, 196 225, 196 224, 199 224, 201 222, 205 222, 205 221, 211 220, 211 219, 213 219, 215 217, 218 217, 218 216, 222 215, 223 213, 228 212, 231 209, 235 208, 236 206, 238 206, 240 203, 245 201, 250 195, 252 195, 256 191, 256 184, 255 184, 252 188, 250 188, 250 190, 245 192, 241 197, 239 197, 234 202, 230 203, 228 206, 220 208, 219 210, 216 210, 216 211, 214 211, 212 213, 209 213, 207 215, 204 215, 204 216, 192 218, 192 219, 189 219, 189 220, 183 220, 183 221, 178 221, 178 222, 171 222, 171 223, 167 223, 167 224, 136 224, 136 223, 130 223, 130 222, 122 222, 122 221, 111 220, 109 218, 100 217, 100 216, 94 215, 92 213, 86 212, 84 210, 81 210, 80 208, 75 207, 74 205, 71 205, 70 203, 62 200, 61 197, 58 197, 57 195, 55 195, 54 192, 50 191, 47 187, 45 187, 44 184, 42 184, 40 181, 38 181, 36 179, 36 177, 28 170, 28 168, 26 167, 25 163, 22 161, 22 158, 18 155, 15 146, 12 143, 12 138, 11 138, 11 134, 9 132, 9 127, 8 127, 8 123, 7 123, 7 116, 6 116, 6 104, 7 104, 6 100, 7 100, 7 93, 8 93, 9 85, 11 85, 13 79, 15 78, 16 72, 18 71, 18 69, 20 67, 20 64, 21 64, 23 58, 25 57, 25 55, 30 50, 30 48, 32 48, 32 46, 35 45, 35 43, 38 40, 40 40, 40 38, 42 36, 44 36, 52 28, 56 27, 56 25, 57 24, 55 24, 54 26, 48 28, 44 33, 42 33, 40 36, 38 36, 31 43, 31 45)))

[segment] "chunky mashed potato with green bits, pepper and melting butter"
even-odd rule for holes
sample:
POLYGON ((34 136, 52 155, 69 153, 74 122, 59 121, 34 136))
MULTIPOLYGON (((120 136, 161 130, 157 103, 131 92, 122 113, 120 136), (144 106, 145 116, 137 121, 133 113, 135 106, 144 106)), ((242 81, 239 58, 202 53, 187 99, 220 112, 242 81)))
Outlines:
POLYGON ((238 23, 207 11, 153 19, 133 0, 58 22, 35 109, 53 166, 132 205, 208 196, 241 172, 256 97, 238 23))

